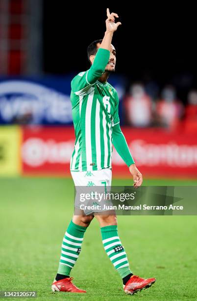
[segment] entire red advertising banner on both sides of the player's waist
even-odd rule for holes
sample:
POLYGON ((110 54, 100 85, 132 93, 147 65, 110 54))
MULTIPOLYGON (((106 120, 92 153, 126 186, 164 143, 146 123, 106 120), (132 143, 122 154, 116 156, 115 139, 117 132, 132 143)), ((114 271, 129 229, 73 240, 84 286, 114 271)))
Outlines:
MULTIPOLYGON (((197 177, 197 137, 159 129, 123 128, 137 167, 145 177, 197 177)), ((23 128, 23 174, 70 175, 74 149, 73 127, 23 128)), ((114 150, 113 175, 129 177, 114 150)))

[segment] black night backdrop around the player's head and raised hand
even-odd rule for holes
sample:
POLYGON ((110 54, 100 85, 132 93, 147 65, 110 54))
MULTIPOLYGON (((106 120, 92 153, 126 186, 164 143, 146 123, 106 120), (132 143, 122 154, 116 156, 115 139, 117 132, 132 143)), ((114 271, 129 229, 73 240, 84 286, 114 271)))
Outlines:
POLYGON ((143 2, 114 5, 91 3, 68 6, 44 1, 44 71, 64 74, 88 68, 86 48, 105 31, 106 7, 116 12, 122 26, 113 37, 116 72, 138 81, 154 78, 162 86, 197 85, 196 34, 193 7, 143 2), (191 78, 192 77, 192 78, 191 78), (186 83, 187 85, 187 83, 186 83))

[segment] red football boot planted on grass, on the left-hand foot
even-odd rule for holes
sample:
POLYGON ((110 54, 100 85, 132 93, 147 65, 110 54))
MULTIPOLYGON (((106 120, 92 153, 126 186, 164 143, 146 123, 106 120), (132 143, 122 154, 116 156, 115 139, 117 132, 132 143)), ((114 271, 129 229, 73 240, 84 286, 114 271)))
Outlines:
POLYGON ((54 280, 51 289, 53 292, 86 293, 86 291, 78 289, 78 287, 71 282, 72 280, 73 277, 64 278, 58 281, 54 280))

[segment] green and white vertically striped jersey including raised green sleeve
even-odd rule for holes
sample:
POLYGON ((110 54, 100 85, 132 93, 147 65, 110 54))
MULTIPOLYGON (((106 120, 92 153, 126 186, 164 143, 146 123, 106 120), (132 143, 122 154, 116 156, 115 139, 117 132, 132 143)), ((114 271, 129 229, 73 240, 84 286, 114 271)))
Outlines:
POLYGON ((108 60, 109 51, 99 48, 91 68, 72 81, 75 145, 71 171, 111 168, 112 127, 120 122, 119 99, 109 83, 98 81, 108 60))

